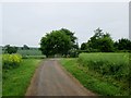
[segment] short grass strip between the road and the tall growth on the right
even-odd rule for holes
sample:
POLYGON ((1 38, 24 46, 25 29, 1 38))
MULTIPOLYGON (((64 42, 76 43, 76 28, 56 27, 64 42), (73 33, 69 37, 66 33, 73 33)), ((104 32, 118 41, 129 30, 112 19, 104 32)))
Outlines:
POLYGON ((87 89, 93 90, 104 96, 120 96, 128 95, 127 90, 122 90, 111 83, 99 79, 100 77, 95 76, 86 72, 84 66, 80 66, 78 59, 61 59, 60 63, 69 71, 80 83, 87 89))

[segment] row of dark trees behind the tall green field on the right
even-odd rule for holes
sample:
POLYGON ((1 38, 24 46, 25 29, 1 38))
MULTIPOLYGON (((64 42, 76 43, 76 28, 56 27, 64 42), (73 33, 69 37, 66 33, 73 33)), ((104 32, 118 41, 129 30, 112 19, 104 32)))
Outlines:
POLYGON ((109 33, 103 33, 103 29, 94 30, 94 36, 81 45, 81 50, 87 52, 118 52, 131 51, 131 40, 121 38, 116 41, 112 40, 109 33))

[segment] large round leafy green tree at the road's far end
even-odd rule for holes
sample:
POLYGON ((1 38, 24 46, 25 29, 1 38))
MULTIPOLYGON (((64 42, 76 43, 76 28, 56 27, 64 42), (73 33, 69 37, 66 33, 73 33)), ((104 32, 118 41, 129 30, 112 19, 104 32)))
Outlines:
POLYGON ((71 47, 71 38, 61 30, 52 30, 40 40, 40 50, 47 58, 55 54, 68 54, 71 47))

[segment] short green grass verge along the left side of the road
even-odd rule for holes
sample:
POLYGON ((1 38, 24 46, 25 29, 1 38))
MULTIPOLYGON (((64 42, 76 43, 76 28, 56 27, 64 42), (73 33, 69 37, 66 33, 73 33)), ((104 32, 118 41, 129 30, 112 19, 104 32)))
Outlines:
POLYGON ((5 78, 2 82, 2 96, 24 96, 40 61, 38 59, 24 59, 19 68, 3 72, 5 78))

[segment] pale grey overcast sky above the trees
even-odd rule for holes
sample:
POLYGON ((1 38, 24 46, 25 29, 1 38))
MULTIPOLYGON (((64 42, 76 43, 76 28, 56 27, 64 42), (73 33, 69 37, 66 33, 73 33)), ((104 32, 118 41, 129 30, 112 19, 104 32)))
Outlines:
POLYGON ((2 3, 2 45, 38 47, 46 33, 62 27, 74 32, 79 44, 97 27, 114 40, 129 38, 128 2, 2 3))

